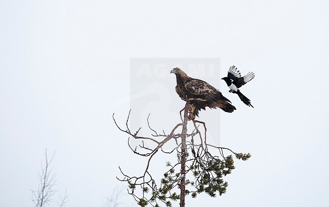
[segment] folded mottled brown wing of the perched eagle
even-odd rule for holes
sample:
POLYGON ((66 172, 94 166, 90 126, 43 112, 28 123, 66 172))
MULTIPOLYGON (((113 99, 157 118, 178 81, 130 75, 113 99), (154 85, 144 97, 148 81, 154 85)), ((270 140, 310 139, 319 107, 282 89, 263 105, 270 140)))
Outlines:
POLYGON ((205 81, 198 79, 189 79, 185 83, 185 88, 192 95, 203 96, 203 95, 214 95, 218 93, 218 90, 205 81))

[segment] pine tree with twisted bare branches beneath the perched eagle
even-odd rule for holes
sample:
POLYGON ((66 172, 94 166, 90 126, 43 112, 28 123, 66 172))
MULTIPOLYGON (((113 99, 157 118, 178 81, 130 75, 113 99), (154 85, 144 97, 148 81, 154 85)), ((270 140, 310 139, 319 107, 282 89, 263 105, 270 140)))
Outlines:
POLYGON ((122 129, 112 116, 117 128, 125 132, 136 140, 141 140, 137 151, 137 146, 132 147, 130 144, 130 137, 128 138, 128 146, 137 155, 149 157, 146 168, 141 176, 126 175, 121 168, 120 172, 124 178, 118 178, 119 181, 128 183, 128 193, 131 194, 140 206, 155 206, 160 204, 165 206, 172 206, 172 201, 180 200, 180 207, 185 206, 185 196, 191 195, 195 198, 198 194, 205 192, 211 197, 216 197, 217 193, 222 195, 226 192, 228 183, 223 180, 223 177, 230 174, 235 168, 232 154, 237 159, 248 160, 251 157, 250 153, 236 153, 229 148, 217 147, 207 143, 207 127, 204 122, 192 120, 193 129, 190 133, 187 130, 189 101, 198 100, 199 98, 188 99, 184 109, 184 117, 181 117, 182 123, 178 123, 169 134, 164 130, 157 132, 152 129, 149 124, 149 117, 147 124, 153 134, 151 137, 139 136, 138 133, 132 132, 128 126, 130 112, 126 121, 126 129, 122 129), (201 125, 199 125, 201 124, 201 125), (176 133, 179 127, 182 126, 181 133, 176 133), (203 126, 204 134, 201 134, 199 126, 203 126), (176 147, 171 151, 163 150, 163 146, 170 140, 175 140, 176 147), (153 148, 146 147, 144 142, 154 143, 153 148), (211 153, 209 148, 217 150, 216 155, 211 153), (177 161, 172 164, 167 162, 169 169, 163 174, 160 182, 156 182, 149 170, 149 166, 153 156, 157 152, 167 154, 177 153, 177 161), (231 153, 226 155, 225 152, 231 153), (139 187, 139 191, 137 191, 139 187), (187 189, 188 188, 188 189, 187 189))

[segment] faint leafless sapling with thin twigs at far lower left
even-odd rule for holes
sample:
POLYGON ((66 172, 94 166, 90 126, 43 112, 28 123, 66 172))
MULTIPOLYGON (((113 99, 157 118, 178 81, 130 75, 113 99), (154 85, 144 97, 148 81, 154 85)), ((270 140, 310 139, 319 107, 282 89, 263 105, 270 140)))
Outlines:
MULTIPOLYGON (((52 168, 50 167, 53 162, 54 156, 55 152, 49 159, 46 149, 45 164, 41 163, 42 171, 38 172, 39 187, 37 190, 31 190, 31 199, 34 202, 35 207, 44 207, 49 205, 52 202, 54 194, 57 193, 57 190, 54 189, 54 186, 56 185, 56 174, 53 174, 52 168)), ((60 201, 56 201, 56 203, 58 204, 58 206, 64 207, 66 206, 66 202, 68 201, 67 198, 68 195, 65 190, 64 196, 60 195, 60 201)))

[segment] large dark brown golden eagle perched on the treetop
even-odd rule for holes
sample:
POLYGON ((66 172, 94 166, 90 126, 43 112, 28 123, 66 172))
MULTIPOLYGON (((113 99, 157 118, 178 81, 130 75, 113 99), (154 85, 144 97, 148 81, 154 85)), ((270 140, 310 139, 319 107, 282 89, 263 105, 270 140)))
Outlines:
POLYGON ((178 67, 174 68, 170 73, 176 75, 176 92, 180 98, 185 101, 189 98, 200 98, 205 100, 190 101, 189 119, 194 119, 195 116, 198 116, 201 109, 205 110, 205 107, 211 109, 216 109, 218 107, 228 113, 236 110, 236 108, 231 105, 231 101, 225 98, 219 90, 211 86, 209 83, 188 77, 186 73, 178 67))

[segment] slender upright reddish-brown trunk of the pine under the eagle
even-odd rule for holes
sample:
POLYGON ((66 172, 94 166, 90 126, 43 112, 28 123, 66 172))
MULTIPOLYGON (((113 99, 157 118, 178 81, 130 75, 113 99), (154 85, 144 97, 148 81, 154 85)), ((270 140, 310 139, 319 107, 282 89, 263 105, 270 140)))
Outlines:
POLYGON ((187 113, 189 109, 189 101, 186 102, 184 108, 184 120, 183 120, 183 129, 182 129, 182 146, 181 146, 181 202, 180 207, 185 207, 185 165, 186 165, 186 132, 187 132, 187 113))

